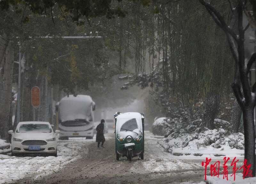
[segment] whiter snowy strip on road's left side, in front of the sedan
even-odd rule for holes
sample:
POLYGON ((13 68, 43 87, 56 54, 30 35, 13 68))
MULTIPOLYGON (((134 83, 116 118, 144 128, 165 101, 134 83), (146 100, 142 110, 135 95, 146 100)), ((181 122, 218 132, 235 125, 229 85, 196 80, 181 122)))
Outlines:
POLYGON ((22 178, 41 178, 65 167, 77 160, 80 153, 88 153, 88 146, 93 140, 71 138, 58 141, 58 156, 24 156, 16 157, 0 154, 0 183, 14 182, 22 178), (81 150, 83 149, 83 150, 81 150))

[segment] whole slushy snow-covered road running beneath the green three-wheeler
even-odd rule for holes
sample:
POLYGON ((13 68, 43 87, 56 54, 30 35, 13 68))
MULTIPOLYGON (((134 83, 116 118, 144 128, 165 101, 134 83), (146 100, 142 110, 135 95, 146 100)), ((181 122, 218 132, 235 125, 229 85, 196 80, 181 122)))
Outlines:
MULTIPOLYGON (((145 132, 144 160, 115 159, 113 131, 105 147, 95 138, 73 138, 58 143, 58 157, 0 155, 0 183, 200 183, 204 184, 205 156, 174 156, 157 143, 162 137, 145 132)), ((222 160, 222 157, 213 160, 222 160)))

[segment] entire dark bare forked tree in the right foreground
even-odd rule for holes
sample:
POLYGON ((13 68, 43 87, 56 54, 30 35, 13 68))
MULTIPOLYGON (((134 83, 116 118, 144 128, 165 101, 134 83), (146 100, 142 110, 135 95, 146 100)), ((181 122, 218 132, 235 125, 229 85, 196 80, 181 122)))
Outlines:
POLYGON ((237 28, 238 33, 230 28, 220 13, 208 2, 204 0, 199 0, 203 4, 209 14, 212 16, 215 23, 220 26, 220 28, 225 32, 230 50, 236 62, 236 71, 234 82, 232 84, 233 92, 236 96, 236 100, 239 103, 244 119, 244 158, 247 159, 249 164, 252 164, 252 176, 255 176, 255 132, 254 132, 254 122, 253 122, 253 109, 255 107, 255 90, 256 84, 251 88, 248 78, 248 73, 252 66, 252 63, 256 59, 256 53, 252 54, 247 65, 245 64, 244 57, 244 32, 248 28, 243 27, 243 11, 246 11, 245 0, 239 0, 236 8, 233 8, 231 2, 231 11, 236 10, 237 15, 237 28), (241 82, 241 83, 240 83, 241 82), (241 86, 242 84, 242 90, 241 86))

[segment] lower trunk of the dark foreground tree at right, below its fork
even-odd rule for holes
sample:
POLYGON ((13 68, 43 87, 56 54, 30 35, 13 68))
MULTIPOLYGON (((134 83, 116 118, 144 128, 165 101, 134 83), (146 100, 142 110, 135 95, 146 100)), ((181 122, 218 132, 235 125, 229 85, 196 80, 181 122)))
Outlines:
POLYGON ((255 176, 255 132, 253 122, 254 106, 246 107, 243 110, 244 118, 244 158, 248 164, 252 164, 252 176, 255 176))

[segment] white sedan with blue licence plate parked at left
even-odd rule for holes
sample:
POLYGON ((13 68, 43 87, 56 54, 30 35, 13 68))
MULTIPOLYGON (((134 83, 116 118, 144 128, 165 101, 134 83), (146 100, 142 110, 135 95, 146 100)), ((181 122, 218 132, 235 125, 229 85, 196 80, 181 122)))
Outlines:
POLYGON ((57 139, 51 124, 40 121, 20 122, 12 134, 12 156, 20 154, 48 154, 57 156, 57 139))

